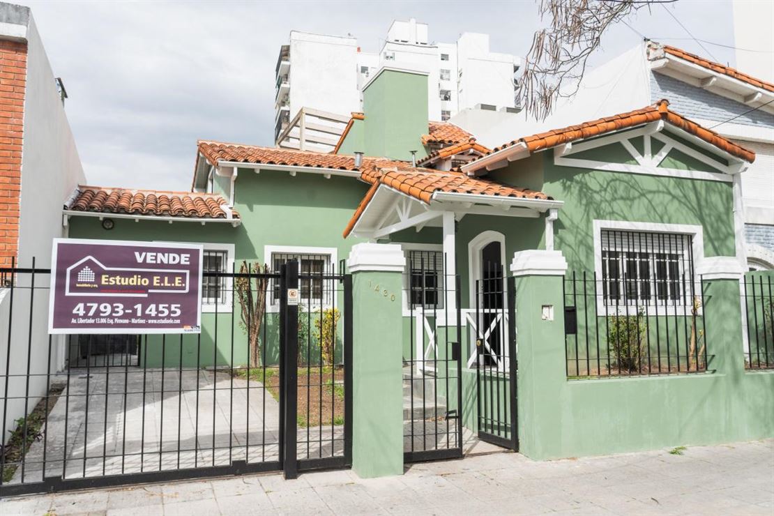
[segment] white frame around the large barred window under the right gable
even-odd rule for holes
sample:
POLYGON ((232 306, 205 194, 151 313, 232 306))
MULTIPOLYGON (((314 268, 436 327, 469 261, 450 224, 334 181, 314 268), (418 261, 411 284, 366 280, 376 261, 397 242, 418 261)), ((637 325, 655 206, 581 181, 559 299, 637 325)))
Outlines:
MULTIPOLYGON (((700 269, 701 262, 704 261, 704 227, 691 224, 663 224, 657 222, 634 222, 626 220, 594 220, 594 272, 597 275, 596 282, 596 298, 597 298, 597 313, 600 316, 607 314, 609 316, 615 315, 634 315, 632 306, 622 304, 618 306, 618 314, 616 314, 615 306, 605 306, 604 295, 602 289, 602 230, 611 231, 644 231, 648 233, 660 233, 660 234, 687 234, 691 238, 691 248, 694 258, 694 292, 701 292, 701 279, 697 274, 700 269)), ((577 278, 576 278, 577 279, 577 278)), ((592 279, 593 281, 593 279, 592 279)), ((649 305, 646 307, 646 313, 649 316, 665 316, 674 313, 677 309, 677 315, 685 313, 690 315, 691 306, 674 305, 667 303, 649 305)), ((704 307, 700 307, 697 315, 703 315, 704 307)))

